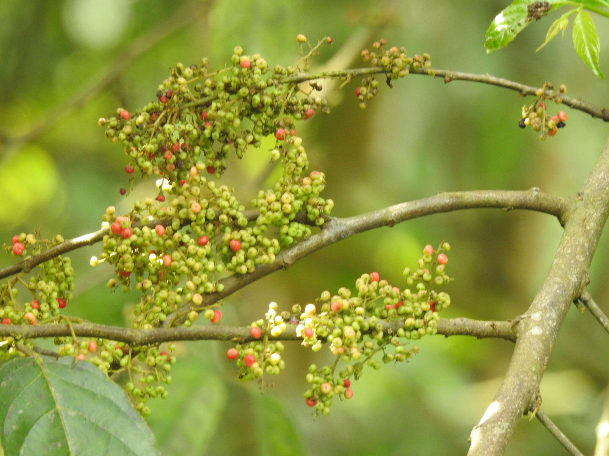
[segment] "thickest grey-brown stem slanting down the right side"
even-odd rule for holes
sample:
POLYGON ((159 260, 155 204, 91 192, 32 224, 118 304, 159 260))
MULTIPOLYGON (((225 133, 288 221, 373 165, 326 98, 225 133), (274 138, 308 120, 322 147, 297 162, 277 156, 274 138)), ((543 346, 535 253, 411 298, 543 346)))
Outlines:
POLYGON ((541 377, 571 303, 585 291, 588 268, 609 215, 609 141, 564 216, 551 268, 518 325, 512 361, 493 402, 471 432, 470 456, 502 455, 537 396, 541 377))

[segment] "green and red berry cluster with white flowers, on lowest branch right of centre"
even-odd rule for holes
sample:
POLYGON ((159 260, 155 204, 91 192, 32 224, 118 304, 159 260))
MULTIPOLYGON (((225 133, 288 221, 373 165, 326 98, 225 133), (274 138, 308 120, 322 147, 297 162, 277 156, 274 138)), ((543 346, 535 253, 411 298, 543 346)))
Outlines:
MULTIPOLYGON (((437 332, 439 312, 451 300, 448 294, 432 287, 452 280, 446 275, 448 257, 443 253, 449 249, 448 243, 440 244, 435 252, 432 246, 426 246, 418 268, 414 272, 404 269, 406 284, 414 289, 392 286, 381 280, 378 272, 372 272, 356 280, 356 292, 340 288, 336 295, 331 295, 324 291, 304 310, 295 305, 292 313, 278 316, 276 303, 271 303, 264 338, 230 348, 227 358, 237 360, 241 379, 279 373, 284 365, 279 354, 283 345, 269 341, 269 337, 279 336, 286 320, 297 325, 297 337, 302 337, 302 345, 313 351, 321 350, 323 343, 328 342, 329 350, 336 356, 334 364, 321 368, 311 365, 306 375, 309 389, 305 392, 305 402, 315 407, 314 414, 328 415, 335 396, 341 399, 353 396, 351 378, 359 379, 364 367, 378 370, 382 363, 407 361, 418 352, 417 345, 406 347, 409 340, 437 332), (382 352, 380 361, 374 359, 379 352, 382 352), (340 361, 346 365, 336 375, 340 361)), ((261 337, 263 325, 264 320, 252 323, 252 337, 261 337)))

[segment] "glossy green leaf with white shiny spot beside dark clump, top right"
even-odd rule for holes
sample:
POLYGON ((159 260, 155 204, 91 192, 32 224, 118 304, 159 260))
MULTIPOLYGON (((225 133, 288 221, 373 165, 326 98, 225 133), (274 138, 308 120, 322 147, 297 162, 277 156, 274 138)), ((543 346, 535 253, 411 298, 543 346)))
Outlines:
MULTIPOLYGON (((487 49, 487 54, 507 46, 510 41, 516 38, 518 33, 522 32, 524 27, 528 26, 531 21, 527 21, 529 15, 528 7, 531 2, 529 0, 514 0, 507 8, 495 16, 484 40, 484 47, 487 49)), ((557 9, 565 4, 565 0, 549 1, 551 4, 550 11, 557 9)))

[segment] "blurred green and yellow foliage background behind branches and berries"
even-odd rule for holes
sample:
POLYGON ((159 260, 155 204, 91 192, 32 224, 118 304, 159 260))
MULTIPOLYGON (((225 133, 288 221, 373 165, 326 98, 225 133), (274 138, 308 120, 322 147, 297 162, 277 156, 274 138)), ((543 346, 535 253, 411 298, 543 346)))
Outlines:
MULTIPOLYGON (((553 18, 531 24, 506 49, 487 55, 484 32, 507 0, 30 0, 0 2, 0 239, 41 230, 76 237, 99 228, 105 207, 126 212, 151 193, 147 182, 128 198, 121 147, 105 139, 99 117, 117 106, 135 109, 155 96, 167 69, 181 61, 222 67, 234 46, 259 52, 270 64, 295 62, 297 33, 326 35, 315 64, 362 66, 359 50, 378 38, 429 52, 434 67, 498 75, 529 85, 565 83, 569 94, 609 105, 609 86, 577 58, 570 40, 543 51, 553 18), (97 81, 103 80, 103 84, 97 81), (93 89, 90 90, 90 88, 93 89), (82 103, 70 100, 85 93, 82 103), (40 122, 42 126, 40 126, 40 122), (28 132, 33 130, 33 134, 28 132), (25 136, 23 136, 25 135, 25 136), (19 138, 15 140, 14 138, 19 138), (13 138, 13 139, 12 139, 13 138)), ((607 19, 596 16, 600 41, 607 19)), ((570 31, 568 32, 570 33, 570 31)), ((607 58, 601 69, 609 72, 607 58)), ((607 138, 600 120, 568 111, 558 136, 541 142, 519 130, 521 100, 487 85, 417 75, 382 86, 362 111, 354 81, 342 91, 325 83, 330 116, 298 126, 312 167, 325 171, 334 215, 350 216, 436 192, 533 186, 558 196, 579 190, 607 138)), ((550 106, 554 109, 554 106, 550 106)), ((249 201, 267 168, 252 151, 226 174, 249 201)), ((452 245, 446 317, 506 319, 524 313, 560 239, 555 219, 527 212, 468 210, 357 235, 248 286, 225 301, 223 322, 247 325, 272 300, 286 308, 320 292, 352 286, 379 271, 395 285, 427 243, 452 245)), ((590 290, 609 310, 602 238, 590 290)), ((124 325, 133 295, 109 294, 111 275, 88 259, 99 246, 73 252, 77 266, 72 314, 124 325)), ((2 255, 0 266, 12 262, 2 255)), ((311 419, 302 393, 306 367, 329 353, 287 344, 287 367, 260 395, 236 380, 224 356, 228 344, 183 343, 167 401, 153 401, 150 426, 164 455, 457 455, 465 454, 505 373, 512 344, 467 337, 427 337, 408 365, 366 371, 354 398, 327 418, 311 419)), ((543 409, 585 454, 594 447, 609 376, 609 343, 590 314, 571 309, 541 384, 543 409)), ((537 420, 523 418, 507 455, 562 455, 563 447, 537 420)))

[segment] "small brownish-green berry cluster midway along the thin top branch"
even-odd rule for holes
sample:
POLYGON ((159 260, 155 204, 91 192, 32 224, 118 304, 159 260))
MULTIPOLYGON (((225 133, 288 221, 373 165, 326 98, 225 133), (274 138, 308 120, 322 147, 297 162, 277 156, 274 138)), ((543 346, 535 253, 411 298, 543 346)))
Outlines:
MULTIPOLYGON (((431 69, 431 60, 429 60, 431 56, 429 54, 416 54, 414 57, 408 57, 405 47, 392 46, 383 50, 382 47, 385 44, 387 44, 387 40, 376 41, 372 45, 372 51, 364 49, 360 55, 365 62, 370 61, 373 66, 384 68, 389 86, 391 86, 390 81, 392 79, 403 78, 411 71, 423 70, 429 75, 435 75, 434 70, 431 69)), ((362 80, 362 85, 355 89, 360 108, 366 108, 366 102, 378 93, 378 86, 379 81, 376 80, 375 75, 370 75, 362 80)))

